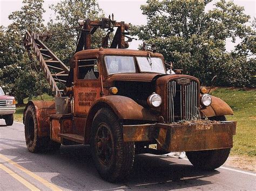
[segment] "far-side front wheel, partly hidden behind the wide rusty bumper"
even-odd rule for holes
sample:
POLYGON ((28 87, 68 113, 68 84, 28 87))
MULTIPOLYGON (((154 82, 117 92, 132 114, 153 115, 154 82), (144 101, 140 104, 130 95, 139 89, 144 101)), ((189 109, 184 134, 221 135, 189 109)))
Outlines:
MULTIPOLYGON (((224 115, 214 116, 209 118, 209 120, 226 121, 226 117, 224 115)), ((230 148, 186 152, 187 158, 192 165, 203 170, 219 168, 225 163, 229 154, 230 148)))

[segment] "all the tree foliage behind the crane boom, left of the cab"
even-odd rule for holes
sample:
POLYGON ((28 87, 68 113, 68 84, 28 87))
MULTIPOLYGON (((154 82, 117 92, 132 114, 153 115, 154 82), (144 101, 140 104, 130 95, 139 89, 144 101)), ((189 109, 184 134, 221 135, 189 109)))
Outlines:
MULTIPOLYGON (((47 27, 43 25, 43 0, 23 0, 21 10, 9 15, 13 22, 8 28, 0 27, 0 85, 10 92, 23 104, 23 99, 37 97, 42 93, 49 93, 50 86, 46 83, 36 58, 29 60, 23 46, 23 38, 27 30, 42 32, 48 30, 52 38, 46 45, 57 54, 60 60, 69 64, 69 59, 75 53, 76 45, 81 33, 78 19, 100 19, 104 17, 102 9, 96 0, 63 0, 57 5, 51 5, 56 19, 51 20, 47 27)), ((92 47, 98 47, 104 31, 93 35, 92 47)))

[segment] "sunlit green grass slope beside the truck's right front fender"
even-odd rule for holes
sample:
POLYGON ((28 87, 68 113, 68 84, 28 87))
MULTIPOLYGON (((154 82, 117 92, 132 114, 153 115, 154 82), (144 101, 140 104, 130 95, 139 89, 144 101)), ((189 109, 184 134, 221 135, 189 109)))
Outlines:
POLYGON ((217 88, 212 95, 226 101, 234 111, 227 120, 237 121, 237 133, 233 139, 232 155, 256 156, 256 91, 217 88))

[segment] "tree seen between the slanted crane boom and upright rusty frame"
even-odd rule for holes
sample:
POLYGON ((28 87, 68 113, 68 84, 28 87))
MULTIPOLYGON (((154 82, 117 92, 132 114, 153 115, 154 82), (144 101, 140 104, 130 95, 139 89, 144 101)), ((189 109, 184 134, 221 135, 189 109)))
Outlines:
MULTIPOLYGON (((104 17, 102 9, 96 0, 63 0, 57 5, 51 5, 55 11, 56 21, 48 23, 48 30, 52 32, 48 46, 56 55, 68 64, 70 57, 75 53, 81 34, 78 19, 100 19, 104 17)), ((101 43, 103 31, 97 31, 92 37, 92 46, 98 47, 101 43)))

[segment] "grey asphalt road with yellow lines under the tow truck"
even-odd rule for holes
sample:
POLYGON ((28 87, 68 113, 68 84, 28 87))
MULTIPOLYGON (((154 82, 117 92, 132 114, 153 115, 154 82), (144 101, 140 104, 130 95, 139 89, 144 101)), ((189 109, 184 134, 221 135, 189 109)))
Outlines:
POLYGON ((189 161, 164 155, 136 155, 131 176, 120 183, 100 179, 88 146, 61 146, 33 154, 26 149, 24 125, 0 120, 0 190, 213 189, 255 190, 256 174, 220 167, 196 170, 189 161))

